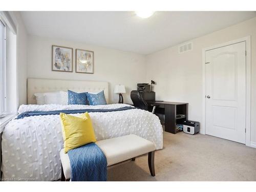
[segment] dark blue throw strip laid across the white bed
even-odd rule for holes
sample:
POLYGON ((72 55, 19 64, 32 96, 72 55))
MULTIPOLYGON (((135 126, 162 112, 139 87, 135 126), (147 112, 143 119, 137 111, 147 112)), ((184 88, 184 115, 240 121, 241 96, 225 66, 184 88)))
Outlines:
POLYGON ((76 113, 93 113, 93 112, 113 112, 138 109, 132 106, 124 106, 118 109, 82 109, 82 110, 58 110, 58 111, 28 111, 19 114, 16 119, 23 119, 24 117, 38 116, 38 115, 59 115, 60 113, 76 114, 76 113))

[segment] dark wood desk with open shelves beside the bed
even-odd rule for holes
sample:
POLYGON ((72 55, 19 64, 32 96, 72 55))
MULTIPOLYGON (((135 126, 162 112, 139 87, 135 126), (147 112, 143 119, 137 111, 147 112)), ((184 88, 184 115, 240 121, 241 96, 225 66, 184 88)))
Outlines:
POLYGON ((152 110, 151 104, 158 105, 156 108, 160 113, 163 113, 165 116, 164 119, 164 127, 165 131, 169 133, 176 134, 180 132, 180 130, 176 130, 176 124, 181 123, 184 120, 188 119, 188 103, 183 102, 169 102, 169 101, 146 101, 148 104, 148 111, 152 110), (162 110, 161 110, 162 109, 162 110), (177 114, 183 114, 185 117, 177 118, 177 114))

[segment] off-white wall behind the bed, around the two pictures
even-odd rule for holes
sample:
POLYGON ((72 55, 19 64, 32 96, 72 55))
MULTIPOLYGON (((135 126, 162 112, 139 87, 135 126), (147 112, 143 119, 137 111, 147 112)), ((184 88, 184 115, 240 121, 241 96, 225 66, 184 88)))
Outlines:
POLYGON ((123 84, 126 88, 126 94, 123 94, 124 102, 131 103, 131 90, 137 89, 137 83, 146 79, 145 56, 81 42, 29 36, 27 74, 28 77, 33 78, 108 81, 111 103, 118 102, 118 94, 113 93, 114 86, 123 84), (75 69, 75 49, 94 51, 94 74, 75 73, 75 70, 73 73, 51 71, 52 45, 73 48, 73 69, 75 69))

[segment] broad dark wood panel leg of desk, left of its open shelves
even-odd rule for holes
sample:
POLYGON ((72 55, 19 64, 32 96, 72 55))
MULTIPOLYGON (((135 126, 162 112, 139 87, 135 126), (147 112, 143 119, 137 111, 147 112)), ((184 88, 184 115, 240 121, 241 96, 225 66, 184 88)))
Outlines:
POLYGON ((176 130, 176 105, 165 104, 164 105, 164 127, 165 131, 175 134, 176 130))

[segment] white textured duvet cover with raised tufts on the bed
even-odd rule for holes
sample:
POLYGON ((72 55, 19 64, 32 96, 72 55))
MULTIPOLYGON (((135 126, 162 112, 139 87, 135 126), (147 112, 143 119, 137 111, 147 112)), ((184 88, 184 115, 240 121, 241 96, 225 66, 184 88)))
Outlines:
MULTIPOLYGON (((74 109, 117 109, 127 104, 109 105, 21 105, 18 113, 74 109)), ((97 140, 136 134, 163 147, 159 118, 133 109, 89 113, 97 140)), ((79 114, 73 114, 78 116, 79 114)), ((59 115, 31 116, 10 121, 2 136, 2 171, 6 180, 53 181, 61 177, 59 151, 63 147, 59 115)))

